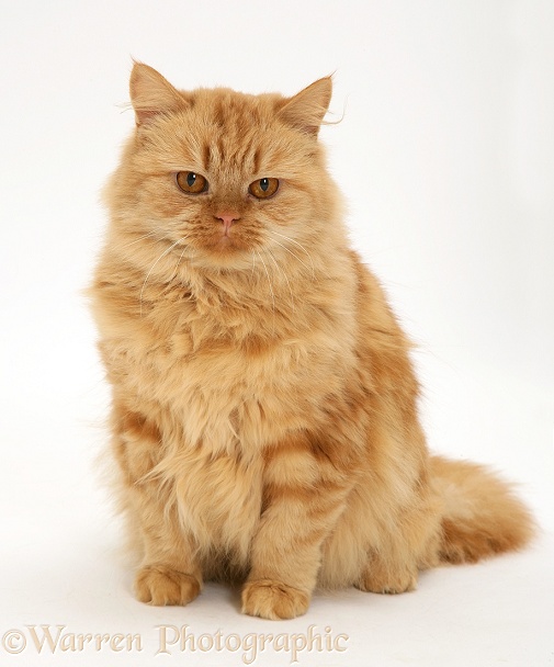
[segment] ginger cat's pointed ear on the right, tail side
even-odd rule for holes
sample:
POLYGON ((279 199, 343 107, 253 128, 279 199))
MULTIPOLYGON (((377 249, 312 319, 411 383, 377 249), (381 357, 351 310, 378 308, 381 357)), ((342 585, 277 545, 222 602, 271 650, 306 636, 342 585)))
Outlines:
POLYGON ((316 137, 329 108, 331 93, 331 77, 319 79, 294 98, 285 100, 279 115, 289 125, 316 137))

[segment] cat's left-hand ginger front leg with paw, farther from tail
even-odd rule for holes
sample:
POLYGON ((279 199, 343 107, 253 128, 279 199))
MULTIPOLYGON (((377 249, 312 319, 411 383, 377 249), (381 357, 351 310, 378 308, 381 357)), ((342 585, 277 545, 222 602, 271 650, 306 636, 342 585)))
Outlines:
POLYGON ((152 473, 161 433, 144 415, 115 406, 113 446, 123 481, 123 501, 143 562, 135 577, 138 600, 188 604, 200 593, 202 573, 192 540, 180 524, 171 482, 152 473))

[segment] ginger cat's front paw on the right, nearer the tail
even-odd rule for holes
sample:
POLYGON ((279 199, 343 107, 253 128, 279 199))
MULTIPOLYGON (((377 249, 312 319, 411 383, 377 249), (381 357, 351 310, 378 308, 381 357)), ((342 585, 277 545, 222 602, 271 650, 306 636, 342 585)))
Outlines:
POLYGON ((272 579, 248 581, 242 589, 242 613, 278 621, 306 613, 309 595, 272 579))

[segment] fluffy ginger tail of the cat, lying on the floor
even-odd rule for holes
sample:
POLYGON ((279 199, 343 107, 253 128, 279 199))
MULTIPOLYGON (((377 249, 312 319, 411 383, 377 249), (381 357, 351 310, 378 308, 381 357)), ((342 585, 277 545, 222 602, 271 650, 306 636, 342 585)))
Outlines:
POLYGON ((519 550, 533 536, 531 512, 487 468, 432 456, 431 475, 444 501, 440 561, 475 563, 519 550))

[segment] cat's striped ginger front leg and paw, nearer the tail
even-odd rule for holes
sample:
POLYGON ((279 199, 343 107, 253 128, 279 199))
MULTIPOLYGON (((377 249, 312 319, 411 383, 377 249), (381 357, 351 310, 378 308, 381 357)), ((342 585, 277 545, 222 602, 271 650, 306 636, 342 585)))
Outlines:
POLYGON ((304 614, 316 586, 321 545, 341 515, 351 479, 339 448, 295 438, 271 448, 264 510, 255 535, 242 612, 264 619, 304 614))

